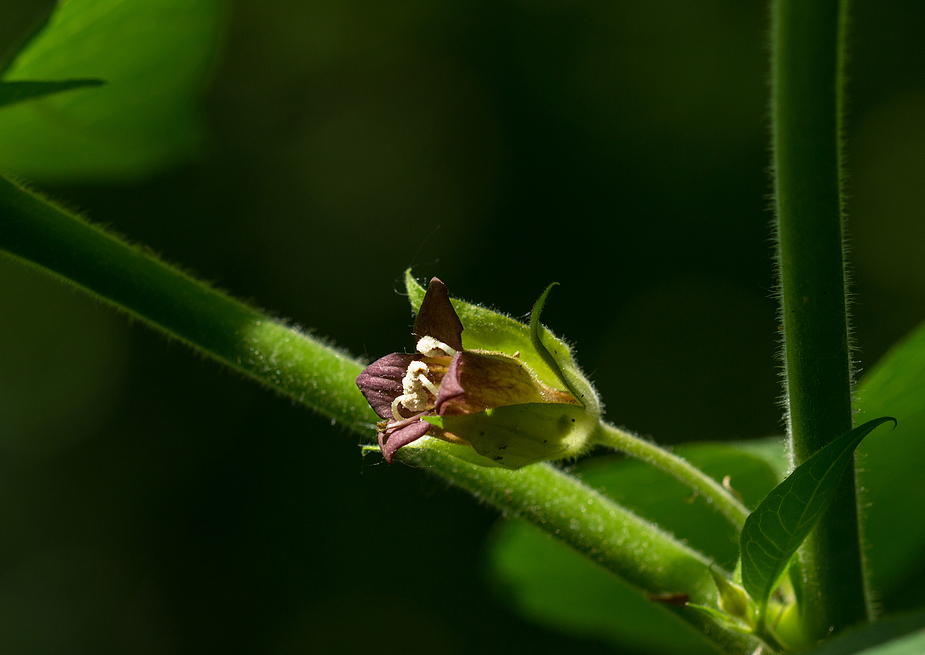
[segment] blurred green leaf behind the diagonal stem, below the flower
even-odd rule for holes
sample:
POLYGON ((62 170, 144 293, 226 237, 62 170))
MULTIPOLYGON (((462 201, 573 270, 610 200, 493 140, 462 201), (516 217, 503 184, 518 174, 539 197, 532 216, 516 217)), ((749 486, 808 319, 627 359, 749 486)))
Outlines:
MULTIPOLYGON (((729 476, 731 488, 749 507, 777 484, 766 462, 734 446, 696 444, 678 448, 678 453, 717 480, 729 476)), ((577 466, 576 473, 719 564, 735 563, 738 548, 729 523, 662 471, 635 460, 602 458, 577 466)), ((644 646, 647 652, 713 652, 663 605, 526 523, 501 524, 490 557, 492 579, 521 612, 538 622, 618 646, 644 646)))

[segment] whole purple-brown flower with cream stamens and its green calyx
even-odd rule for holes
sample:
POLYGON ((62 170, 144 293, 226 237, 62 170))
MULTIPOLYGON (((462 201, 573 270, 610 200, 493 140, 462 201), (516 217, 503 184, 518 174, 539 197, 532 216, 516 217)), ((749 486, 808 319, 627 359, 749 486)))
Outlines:
POLYGON ((589 447, 600 403, 568 345, 539 324, 549 289, 528 327, 451 301, 437 278, 426 293, 410 274, 405 281, 412 304, 420 299, 418 354, 386 355, 357 377, 384 419, 378 438, 387 462, 424 436, 471 447, 467 461, 510 469, 576 457, 589 447), (489 347, 464 349, 464 330, 474 333, 467 342, 489 347))

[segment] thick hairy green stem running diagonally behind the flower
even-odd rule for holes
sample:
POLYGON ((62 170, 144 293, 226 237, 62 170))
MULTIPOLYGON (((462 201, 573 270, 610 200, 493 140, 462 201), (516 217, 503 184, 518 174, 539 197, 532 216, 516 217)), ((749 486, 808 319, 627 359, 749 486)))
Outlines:
MULTIPOLYGON (((378 417, 354 383, 361 362, 3 178, 0 252, 64 278, 366 439, 375 434, 378 417)), ((710 562, 648 521, 554 467, 484 468, 458 459, 454 447, 430 440, 427 448, 403 449, 401 459, 523 516, 642 591, 716 604, 710 562)), ((748 650, 747 638, 692 610, 670 609, 706 630, 720 650, 748 650)))

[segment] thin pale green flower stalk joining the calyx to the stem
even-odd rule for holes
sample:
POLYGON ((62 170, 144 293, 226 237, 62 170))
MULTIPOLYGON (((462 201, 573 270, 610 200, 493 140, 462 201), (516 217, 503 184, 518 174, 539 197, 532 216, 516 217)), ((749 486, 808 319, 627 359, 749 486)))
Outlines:
POLYGON ((682 457, 660 448, 656 444, 601 421, 594 433, 594 441, 602 446, 615 448, 631 457, 647 462, 680 480, 725 516, 741 531, 748 517, 745 507, 729 490, 682 457))

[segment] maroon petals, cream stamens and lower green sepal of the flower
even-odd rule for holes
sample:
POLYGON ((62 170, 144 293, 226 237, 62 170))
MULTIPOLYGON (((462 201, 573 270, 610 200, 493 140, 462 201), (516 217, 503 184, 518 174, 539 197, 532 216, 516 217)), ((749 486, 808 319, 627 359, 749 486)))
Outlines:
POLYGON ((579 454, 596 424, 596 403, 588 412, 564 380, 566 389, 540 381, 519 352, 465 350, 463 329, 446 286, 433 278, 414 323, 417 353, 386 355, 357 377, 383 419, 385 460, 424 436, 471 447, 466 459, 486 466, 579 454))

